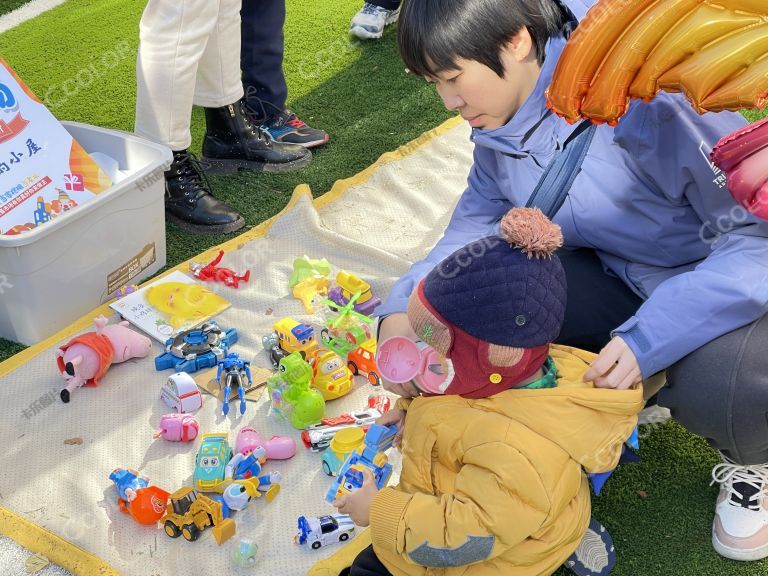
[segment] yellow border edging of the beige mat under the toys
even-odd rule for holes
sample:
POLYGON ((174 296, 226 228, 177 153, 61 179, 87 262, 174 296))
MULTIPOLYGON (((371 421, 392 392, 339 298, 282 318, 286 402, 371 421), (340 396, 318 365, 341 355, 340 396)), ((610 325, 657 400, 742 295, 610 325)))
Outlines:
MULTIPOLYGON (((371 164, 362 172, 359 172, 354 176, 344 180, 337 180, 328 192, 313 200, 314 205, 319 209, 327 206, 332 202, 335 202, 341 198, 352 186, 357 186, 366 182, 382 166, 385 166, 386 164, 396 160, 402 160, 403 158, 413 154, 428 144, 430 141, 432 141, 432 139, 434 139, 436 136, 440 136, 448 130, 459 126, 462 124, 462 122, 463 120, 459 116, 451 118, 450 120, 443 122, 437 128, 433 128, 415 140, 404 144, 397 150, 382 154, 379 159, 376 160, 376 162, 371 164)), ((283 213, 293 208, 299 201, 299 198, 302 196, 312 197, 312 191, 306 184, 297 186, 285 208, 275 214, 272 218, 262 222, 257 226, 254 226, 247 232, 244 232, 243 234, 240 234, 231 240, 227 240, 223 244, 209 248, 205 252, 195 256, 194 259, 212 259, 215 256, 215 253, 219 250, 224 250, 225 252, 239 250, 245 243, 250 242, 251 240, 255 240, 256 238, 262 238, 266 236, 274 221, 282 216, 283 213)), ((189 262, 191 260, 192 259, 174 266, 170 270, 164 272, 160 277, 170 274, 174 270, 188 269, 189 262)), ((156 279, 157 278, 153 278, 152 281, 155 281, 156 279)), ((20 368, 25 363, 35 358, 37 355, 51 348, 57 342, 60 342, 68 336, 89 328, 93 322, 93 318, 101 313, 109 315, 111 310, 106 304, 99 306, 98 308, 91 310, 88 314, 84 315, 82 318, 67 328, 60 330, 50 338, 47 338, 42 342, 38 342, 34 346, 30 346, 29 348, 22 350, 18 354, 8 358, 5 362, 0 364, 0 378, 7 376, 17 368, 20 368)), ((94 556, 90 552, 86 552, 71 542, 63 540, 52 532, 41 528, 37 524, 30 522, 26 518, 19 516, 15 512, 3 508, 2 506, 0 506, 0 534, 15 540, 18 544, 24 548, 27 548, 33 553, 44 555, 53 564, 57 564, 62 568, 69 570, 76 576, 112 576, 120 574, 117 570, 112 568, 99 557, 94 556)))

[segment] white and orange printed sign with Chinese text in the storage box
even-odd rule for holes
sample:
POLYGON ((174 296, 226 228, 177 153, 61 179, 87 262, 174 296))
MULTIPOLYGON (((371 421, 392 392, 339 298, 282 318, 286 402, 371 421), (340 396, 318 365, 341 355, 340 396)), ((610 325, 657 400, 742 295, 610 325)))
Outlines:
POLYGON ((99 165, 0 59, 0 234, 20 234, 112 185, 99 165))

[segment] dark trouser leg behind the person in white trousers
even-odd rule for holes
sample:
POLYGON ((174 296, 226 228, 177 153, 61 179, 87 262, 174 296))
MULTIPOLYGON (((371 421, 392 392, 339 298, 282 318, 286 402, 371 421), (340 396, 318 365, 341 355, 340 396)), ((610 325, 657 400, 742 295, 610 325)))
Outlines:
POLYGON ((240 68, 248 106, 260 116, 285 108, 285 0, 243 0, 240 68))

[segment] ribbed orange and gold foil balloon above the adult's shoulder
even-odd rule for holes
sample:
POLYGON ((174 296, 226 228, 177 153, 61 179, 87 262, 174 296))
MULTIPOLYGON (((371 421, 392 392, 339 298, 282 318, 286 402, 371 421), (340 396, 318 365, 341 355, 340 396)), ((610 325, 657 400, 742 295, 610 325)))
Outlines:
POLYGON ((566 44, 547 105, 615 124, 660 89, 699 112, 762 107, 767 80, 768 0, 601 0, 566 44))

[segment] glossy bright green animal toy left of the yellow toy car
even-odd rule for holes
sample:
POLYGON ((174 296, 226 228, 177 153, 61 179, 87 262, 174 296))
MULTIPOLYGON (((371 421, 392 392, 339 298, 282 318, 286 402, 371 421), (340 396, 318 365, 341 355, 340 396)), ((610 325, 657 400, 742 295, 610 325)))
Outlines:
POLYGON ((310 388, 312 368, 293 352, 280 360, 278 373, 267 380, 272 409, 294 428, 306 428, 320 422, 325 413, 323 395, 310 388))

